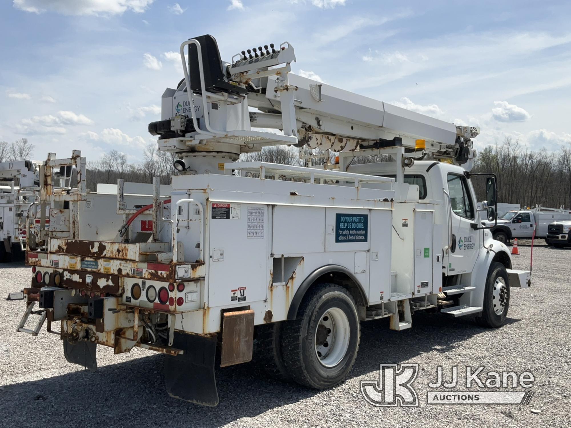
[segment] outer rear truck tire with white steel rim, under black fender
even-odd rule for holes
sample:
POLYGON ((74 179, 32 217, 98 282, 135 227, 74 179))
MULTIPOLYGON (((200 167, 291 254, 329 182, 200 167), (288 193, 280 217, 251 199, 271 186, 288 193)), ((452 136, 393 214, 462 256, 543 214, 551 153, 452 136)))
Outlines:
POLYGON ((343 382, 357 357, 360 334, 355 300, 347 289, 327 283, 310 289, 296 319, 282 330, 292 380, 315 389, 343 382))

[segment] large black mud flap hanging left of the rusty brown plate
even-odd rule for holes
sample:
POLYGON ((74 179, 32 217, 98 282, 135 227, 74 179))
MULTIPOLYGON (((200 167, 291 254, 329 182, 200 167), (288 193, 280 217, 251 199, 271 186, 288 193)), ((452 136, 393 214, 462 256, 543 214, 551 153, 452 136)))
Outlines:
POLYGON ((218 389, 214 376, 216 337, 175 332, 175 348, 184 354, 166 356, 164 383, 168 395, 204 406, 218 405, 218 389))

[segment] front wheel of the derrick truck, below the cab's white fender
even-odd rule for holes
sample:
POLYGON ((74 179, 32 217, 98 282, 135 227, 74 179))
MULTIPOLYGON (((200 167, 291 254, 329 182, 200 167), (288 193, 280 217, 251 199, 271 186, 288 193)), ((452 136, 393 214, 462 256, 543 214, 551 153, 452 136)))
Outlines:
POLYGON ((489 328, 504 325, 509 309, 509 280, 505 266, 493 262, 488 269, 486 288, 484 290, 484 306, 482 314, 476 322, 489 328))

